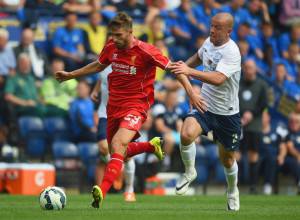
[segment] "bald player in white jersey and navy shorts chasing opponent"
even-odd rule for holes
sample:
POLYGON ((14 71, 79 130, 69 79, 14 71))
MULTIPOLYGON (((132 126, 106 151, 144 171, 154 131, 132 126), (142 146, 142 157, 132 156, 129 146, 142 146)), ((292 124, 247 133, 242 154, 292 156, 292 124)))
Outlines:
POLYGON ((241 55, 230 39, 232 27, 233 17, 229 13, 216 14, 211 20, 210 36, 202 47, 185 63, 179 61, 173 64, 171 71, 177 75, 195 107, 187 115, 181 130, 180 152, 185 173, 177 182, 176 193, 184 194, 197 177, 195 139, 212 131, 227 180, 227 210, 238 211, 240 201, 235 151, 239 148, 241 135, 238 99, 241 55), (203 71, 193 69, 201 63, 203 71), (186 76, 203 82, 201 96, 194 94, 186 76))

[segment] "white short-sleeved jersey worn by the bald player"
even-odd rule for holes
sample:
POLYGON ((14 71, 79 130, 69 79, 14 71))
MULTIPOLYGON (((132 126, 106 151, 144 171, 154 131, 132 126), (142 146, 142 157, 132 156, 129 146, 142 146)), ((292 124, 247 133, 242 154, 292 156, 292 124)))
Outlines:
POLYGON ((218 115, 233 115, 239 112, 239 81, 241 78, 241 54, 233 40, 215 47, 207 38, 198 50, 204 72, 216 71, 227 80, 220 86, 203 83, 201 94, 207 102, 208 111, 218 115))

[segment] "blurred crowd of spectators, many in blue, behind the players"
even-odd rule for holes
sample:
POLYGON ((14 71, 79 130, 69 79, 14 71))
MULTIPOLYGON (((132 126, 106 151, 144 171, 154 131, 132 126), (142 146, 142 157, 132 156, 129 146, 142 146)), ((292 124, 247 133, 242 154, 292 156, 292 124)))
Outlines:
MULTIPOLYGON (((209 36, 213 15, 231 13, 235 19, 231 37, 242 55, 239 97, 245 135, 239 157, 240 182, 257 193, 263 174, 263 192, 271 194, 276 192, 278 177, 290 174, 300 189, 299 0, 0 0, 0 25, 1 20, 12 19, 19 22, 21 30, 19 41, 13 42, 14 33, 5 25, 0 29, 2 153, 4 146, 16 146, 27 158, 49 154, 47 150, 41 154, 28 150, 27 136, 20 128, 24 117, 39 118, 42 123, 60 118, 68 130, 60 139, 96 141, 99 103, 92 102, 90 93, 98 74, 59 84, 53 73, 74 70, 97 59, 106 41, 106 24, 117 11, 125 11, 134 19, 137 38, 157 46, 174 61, 187 59, 201 47, 209 36), (37 44, 42 19, 47 21, 42 29, 46 39, 37 44), (53 31, 51 23, 55 23, 53 31), (269 111, 270 102, 282 95, 298 103, 289 109, 287 117, 269 111)), ((201 91, 201 82, 192 83, 201 91)), ((140 172, 146 176, 182 169, 179 131, 190 109, 183 88, 172 74, 158 69, 155 89, 156 102, 142 139, 162 136, 166 158, 155 165, 157 161, 151 156, 137 157, 140 167, 151 167, 149 174, 140 172)), ((197 158, 198 183, 211 181, 212 176, 215 181, 225 181, 217 147, 210 137, 199 138, 197 158)))

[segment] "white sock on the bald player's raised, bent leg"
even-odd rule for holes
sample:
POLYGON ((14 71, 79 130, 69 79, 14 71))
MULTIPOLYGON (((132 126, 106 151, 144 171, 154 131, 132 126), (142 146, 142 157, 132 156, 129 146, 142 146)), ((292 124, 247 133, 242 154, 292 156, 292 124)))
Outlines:
POLYGON ((185 173, 190 174, 195 170, 196 144, 195 142, 184 146, 180 144, 180 154, 185 167, 185 173))

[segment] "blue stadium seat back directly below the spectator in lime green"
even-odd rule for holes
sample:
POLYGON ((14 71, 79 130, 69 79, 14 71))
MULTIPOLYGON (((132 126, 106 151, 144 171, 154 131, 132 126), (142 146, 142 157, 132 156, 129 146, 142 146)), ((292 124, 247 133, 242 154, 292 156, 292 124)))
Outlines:
POLYGON ((70 133, 65 119, 48 117, 44 119, 45 130, 51 141, 69 141, 70 133))

